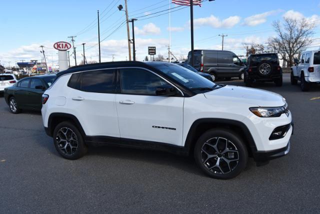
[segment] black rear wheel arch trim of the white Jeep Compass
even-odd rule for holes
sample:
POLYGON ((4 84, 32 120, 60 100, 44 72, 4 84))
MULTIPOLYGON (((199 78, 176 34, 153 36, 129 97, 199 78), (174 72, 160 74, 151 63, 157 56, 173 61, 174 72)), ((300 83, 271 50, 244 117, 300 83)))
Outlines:
POLYGON ((48 135, 52 136, 54 128, 57 124, 63 121, 70 121, 72 122, 80 131, 81 135, 84 137, 85 132, 82 128, 81 123, 73 114, 69 113, 51 113, 48 118, 48 135))

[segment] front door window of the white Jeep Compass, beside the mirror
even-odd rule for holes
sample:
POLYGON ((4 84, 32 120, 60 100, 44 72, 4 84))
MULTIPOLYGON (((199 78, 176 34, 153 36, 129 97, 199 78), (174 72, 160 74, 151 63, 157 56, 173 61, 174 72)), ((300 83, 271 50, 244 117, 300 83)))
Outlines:
POLYGON ((120 69, 121 92, 137 95, 156 95, 158 86, 169 85, 159 76, 139 68, 120 69))

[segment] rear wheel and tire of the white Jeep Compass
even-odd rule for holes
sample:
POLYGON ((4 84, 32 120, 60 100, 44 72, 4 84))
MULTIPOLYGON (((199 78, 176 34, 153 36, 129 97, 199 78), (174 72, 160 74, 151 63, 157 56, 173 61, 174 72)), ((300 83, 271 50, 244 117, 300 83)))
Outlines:
POLYGON ((78 128, 69 121, 60 122, 53 131, 57 152, 66 159, 78 159, 87 152, 87 146, 78 128))

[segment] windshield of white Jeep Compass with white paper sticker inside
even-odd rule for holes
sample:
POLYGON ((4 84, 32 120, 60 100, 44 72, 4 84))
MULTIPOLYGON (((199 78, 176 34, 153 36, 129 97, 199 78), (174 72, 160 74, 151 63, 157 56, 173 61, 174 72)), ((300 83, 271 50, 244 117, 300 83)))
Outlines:
POLYGON ((165 63, 152 64, 152 66, 191 90, 212 90, 212 88, 217 88, 214 82, 180 65, 165 63))

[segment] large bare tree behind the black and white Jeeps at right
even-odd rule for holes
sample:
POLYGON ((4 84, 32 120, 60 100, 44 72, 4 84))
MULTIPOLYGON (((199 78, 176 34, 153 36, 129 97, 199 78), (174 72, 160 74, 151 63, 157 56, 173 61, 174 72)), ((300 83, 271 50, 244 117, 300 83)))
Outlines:
POLYGON ((269 49, 277 52, 288 66, 292 66, 293 58, 312 42, 314 24, 304 18, 284 18, 282 24, 274 21, 272 25, 277 36, 268 39, 269 49))

